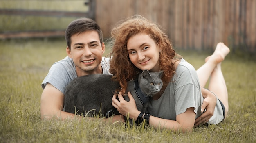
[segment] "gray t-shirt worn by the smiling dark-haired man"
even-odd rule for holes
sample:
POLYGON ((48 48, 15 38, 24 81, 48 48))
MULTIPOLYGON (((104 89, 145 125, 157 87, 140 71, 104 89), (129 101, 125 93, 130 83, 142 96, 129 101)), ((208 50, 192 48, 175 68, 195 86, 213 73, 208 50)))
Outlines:
MULTIPOLYGON (((103 74, 110 74, 109 62, 110 58, 102 57, 101 67, 103 69, 103 74)), ((76 67, 72 58, 67 56, 63 60, 58 61, 52 65, 41 86, 44 89, 46 84, 50 83, 64 94, 66 91, 66 86, 74 78, 77 78, 76 67)))

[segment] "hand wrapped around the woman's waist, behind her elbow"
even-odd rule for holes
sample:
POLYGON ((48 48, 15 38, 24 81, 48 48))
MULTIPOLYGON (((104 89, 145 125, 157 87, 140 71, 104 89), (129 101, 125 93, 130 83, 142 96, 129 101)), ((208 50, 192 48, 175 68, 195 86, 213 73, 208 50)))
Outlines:
POLYGON ((202 95, 204 98, 203 104, 201 106, 201 112, 202 115, 200 115, 197 119, 195 119, 195 126, 198 126, 199 124, 204 124, 209 121, 211 116, 213 116, 214 109, 216 106, 216 96, 211 93, 209 90, 202 88, 202 95), (204 109, 206 111, 204 112, 204 109), (203 113, 204 112, 204 113, 203 113))

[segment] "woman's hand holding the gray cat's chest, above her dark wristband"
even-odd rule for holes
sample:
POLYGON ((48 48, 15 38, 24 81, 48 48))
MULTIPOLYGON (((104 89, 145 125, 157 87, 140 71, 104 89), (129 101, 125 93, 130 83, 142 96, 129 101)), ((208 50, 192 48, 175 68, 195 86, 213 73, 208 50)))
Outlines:
POLYGON ((129 102, 124 100, 122 93, 119 92, 118 95, 113 95, 112 106, 117 108, 117 111, 121 115, 129 116, 130 119, 136 120, 139 116, 140 111, 138 111, 135 100, 130 92, 128 92, 128 98, 130 99, 129 102), (119 98, 119 101, 117 100, 117 96, 119 98))

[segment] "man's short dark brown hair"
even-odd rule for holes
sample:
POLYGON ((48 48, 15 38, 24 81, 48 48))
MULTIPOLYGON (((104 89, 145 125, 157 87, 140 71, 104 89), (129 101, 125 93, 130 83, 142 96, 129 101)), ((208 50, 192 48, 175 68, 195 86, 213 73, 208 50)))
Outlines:
POLYGON ((93 31, 95 30, 99 34, 99 40, 100 43, 103 43, 103 35, 101 28, 99 25, 94 21, 89 18, 80 18, 77 20, 72 21, 66 29, 65 32, 65 39, 67 41, 67 46, 70 49, 71 47, 71 39, 70 37, 74 34, 80 34, 85 31, 93 31))

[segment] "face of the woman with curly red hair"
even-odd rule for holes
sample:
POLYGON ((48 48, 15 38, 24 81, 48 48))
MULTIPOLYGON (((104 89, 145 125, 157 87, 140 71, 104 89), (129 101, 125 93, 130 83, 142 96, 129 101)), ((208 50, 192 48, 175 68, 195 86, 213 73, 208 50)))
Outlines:
POLYGON ((146 33, 139 33, 127 41, 132 63, 139 69, 159 72, 159 45, 146 33))

